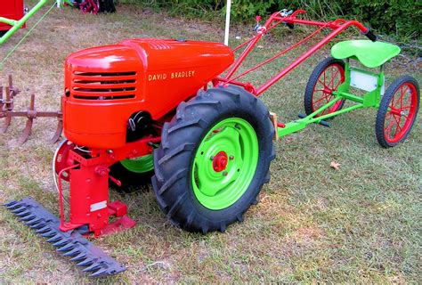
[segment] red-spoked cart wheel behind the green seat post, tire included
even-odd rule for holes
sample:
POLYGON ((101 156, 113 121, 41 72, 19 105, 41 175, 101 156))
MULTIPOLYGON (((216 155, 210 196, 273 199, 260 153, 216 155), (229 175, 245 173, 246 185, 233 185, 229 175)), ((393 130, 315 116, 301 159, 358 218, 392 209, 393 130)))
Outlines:
MULTIPOLYGON (((313 69, 311 77, 304 91, 304 111, 306 115, 311 115, 323 105, 327 104, 335 98, 331 94, 336 91, 338 86, 345 82, 345 62, 336 60, 332 57, 321 61, 315 69, 313 69)), ((327 115, 342 109, 345 100, 336 102, 329 109, 323 110, 315 117, 327 115)))

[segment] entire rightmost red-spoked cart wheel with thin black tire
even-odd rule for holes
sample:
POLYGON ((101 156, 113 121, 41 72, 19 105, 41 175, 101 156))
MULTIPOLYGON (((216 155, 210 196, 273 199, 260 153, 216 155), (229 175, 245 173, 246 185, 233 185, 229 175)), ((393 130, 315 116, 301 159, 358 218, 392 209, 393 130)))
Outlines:
POLYGON ((377 112, 375 134, 382 147, 390 148, 409 135, 419 108, 419 86, 415 78, 396 79, 383 95, 377 112))

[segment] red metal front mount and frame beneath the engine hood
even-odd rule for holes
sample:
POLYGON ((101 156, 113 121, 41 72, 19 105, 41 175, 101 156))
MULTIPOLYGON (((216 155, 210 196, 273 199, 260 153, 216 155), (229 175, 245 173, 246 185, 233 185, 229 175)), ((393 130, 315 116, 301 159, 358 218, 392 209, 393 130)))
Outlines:
POLYGON ((109 201, 109 167, 122 159, 150 154, 152 143, 160 140, 160 137, 147 137, 137 142, 126 143, 122 148, 113 151, 81 151, 77 147, 69 150, 64 160, 66 167, 61 165, 58 181, 61 231, 68 232, 86 224, 89 232, 98 237, 134 226, 134 222, 126 216, 126 205, 119 201, 109 201), (61 187, 63 173, 69 174, 67 177, 70 183, 69 221, 66 221, 64 216, 61 187), (109 224, 110 216, 122 218, 109 224))

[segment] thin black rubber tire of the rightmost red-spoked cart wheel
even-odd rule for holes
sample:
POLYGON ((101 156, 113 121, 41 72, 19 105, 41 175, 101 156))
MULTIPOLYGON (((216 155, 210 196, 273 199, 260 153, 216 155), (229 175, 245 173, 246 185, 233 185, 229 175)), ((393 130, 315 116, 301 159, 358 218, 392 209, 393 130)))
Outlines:
MULTIPOLYGON (((419 101, 420 101, 419 85, 418 85, 418 81, 413 77, 410 77, 410 76, 399 77, 396 80, 394 80, 394 82, 387 88, 379 104, 379 108, 377 111, 377 118, 375 121, 375 134, 377 136, 377 142, 383 148, 394 147, 398 143, 403 142, 408 137, 408 135, 410 134, 411 128, 415 124, 415 120, 418 116, 419 101), (394 99, 394 94, 396 94, 399 91, 402 85, 414 86, 414 91, 416 92, 416 94, 415 94, 415 97, 413 97, 414 101, 412 101, 412 103, 414 104, 414 107, 411 109, 413 115, 411 118, 406 119, 406 120, 409 119, 409 122, 405 121, 405 123, 403 124, 402 127, 406 127, 406 129, 403 132, 399 133, 396 139, 389 140, 385 138, 386 136, 385 119, 387 119, 386 118, 387 112, 389 112, 390 103, 394 99)), ((399 120, 399 123, 400 123, 400 120, 399 120)), ((391 132, 391 127, 390 127, 390 132, 391 132)))

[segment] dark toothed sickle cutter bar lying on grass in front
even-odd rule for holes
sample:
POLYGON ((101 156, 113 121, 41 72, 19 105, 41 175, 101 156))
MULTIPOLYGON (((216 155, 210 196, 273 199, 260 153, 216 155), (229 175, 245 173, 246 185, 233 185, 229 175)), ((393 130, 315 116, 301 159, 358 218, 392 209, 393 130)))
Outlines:
POLYGON ((13 200, 4 204, 20 221, 27 224, 31 229, 42 237, 47 238, 57 248, 62 256, 71 257, 70 260, 77 262, 77 266, 83 266, 85 273, 92 273, 92 277, 114 275, 126 270, 116 260, 97 248, 89 240, 86 240, 78 230, 61 232, 59 229, 60 219, 37 203, 36 200, 27 197, 20 201, 13 200))

